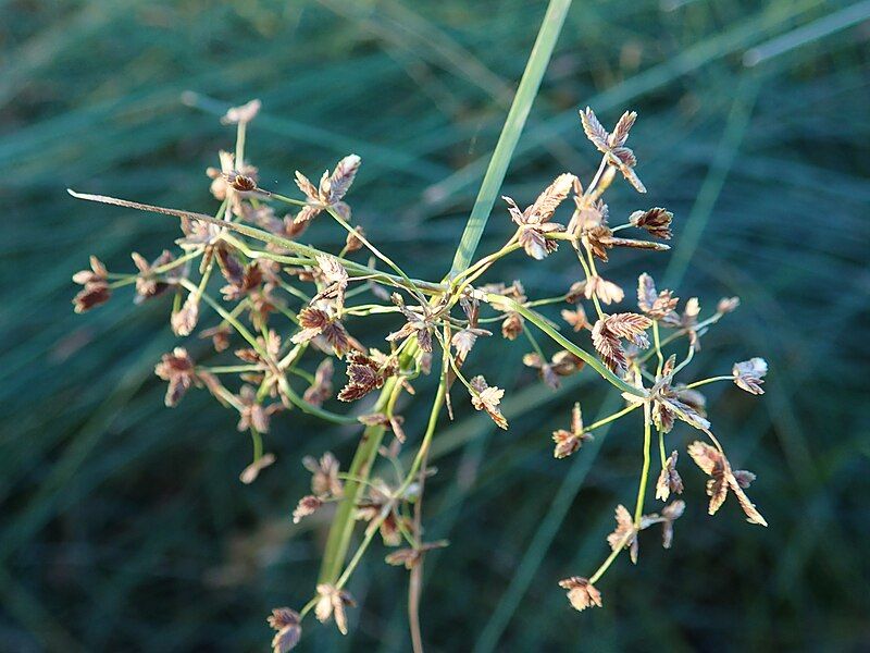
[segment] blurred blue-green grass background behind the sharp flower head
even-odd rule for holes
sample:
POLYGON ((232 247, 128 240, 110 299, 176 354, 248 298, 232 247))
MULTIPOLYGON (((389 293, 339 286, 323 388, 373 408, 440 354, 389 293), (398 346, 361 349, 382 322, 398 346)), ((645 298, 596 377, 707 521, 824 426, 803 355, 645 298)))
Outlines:
MULTIPOLYGON (((129 250, 153 258, 177 226, 64 188, 211 211, 203 169, 233 144, 216 114, 259 97, 248 152, 261 178, 291 189, 294 169, 316 174, 356 151, 355 219, 437 279, 545 3, 0 8, 0 650, 265 650, 269 609, 307 600, 325 534, 290 523, 309 482, 300 459, 332 448, 347 461, 356 432, 283 415, 268 439, 278 461, 241 485, 250 444, 233 416, 203 393, 163 407, 153 364, 175 342, 167 303, 134 310, 119 294, 84 317, 70 305, 88 254, 132 269, 129 250), (183 102, 186 90, 198 95, 183 102)), ((621 559, 601 583, 606 608, 575 614, 556 581, 606 554, 612 508, 635 492, 637 424, 555 461, 549 433, 571 403, 592 416, 614 398, 588 372, 554 394, 518 372, 519 341, 483 343, 470 365, 508 389, 512 428, 463 411, 436 439, 427 539, 452 545, 426 558, 428 650, 870 649, 868 15, 870 3, 837 0, 575 3, 505 190, 523 204, 563 170, 588 178, 597 158, 579 107, 611 124, 639 111, 632 146, 650 192, 619 185, 611 214, 667 206, 676 247, 614 256, 609 276, 667 274, 708 308, 743 298, 693 365, 700 378, 753 355, 771 362, 758 401, 708 393, 771 526, 746 525, 731 502, 709 518, 683 456, 674 549, 645 538, 638 566, 621 559)), ((510 229, 497 206, 481 251, 510 229)), ((306 236, 344 241, 322 224, 306 236)), ((498 272, 540 297, 576 280, 566 261, 517 257, 498 272)), ((374 344, 382 331, 357 335, 374 344)), ((693 436, 678 427, 671 444, 693 436)), ((300 650, 408 650, 406 574, 383 554, 351 583, 351 634, 307 626, 300 650)))

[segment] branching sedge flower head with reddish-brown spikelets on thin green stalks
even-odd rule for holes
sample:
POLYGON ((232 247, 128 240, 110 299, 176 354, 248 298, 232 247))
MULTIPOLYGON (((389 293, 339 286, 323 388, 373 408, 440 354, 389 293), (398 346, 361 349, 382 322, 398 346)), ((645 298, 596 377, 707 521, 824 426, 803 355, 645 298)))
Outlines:
POLYGON ((524 337, 531 350, 523 362, 552 389, 559 387, 562 378, 591 368, 622 392, 625 406, 592 424, 584 423, 576 404, 568 428, 552 433, 556 458, 575 454, 605 423, 635 409, 644 415, 644 466, 637 505, 633 514, 622 505, 617 507, 617 527, 607 538, 611 553, 598 570, 589 578, 571 577, 560 582, 575 608, 601 605, 594 583, 620 552, 627 550, 636 562, 641 531, 661 526, 662 544, 671 546, 674 521, 683 514, 685 503, 675 500, 657 513, 645 512, 652 429, 658 434, 661 463, 657 500, 668 502, 683 492, 678 452, 666 456, 664 447, 666 435, 681 420, 706 438, 693 442, 688 455, 709 477, 709 513, 714 514, 732 493, 750 522, 766 525, 745 493, 755 477, 732 468, 711 431, 706 399, 698 387, 731 380, 746 392, 761 394, 767 364, 753 358, 735 364, 730 374, 694 382, 678 380, 700 349, 701 336, 737 308, 738 300, 722 299, 704 317, 697 298, 681 307, 670 289, 658 289, 645 273, 637 281, 637 310, 609 311, 610 306, 625 300, 625 293, 617 282, 602 276, 598 267, 617 248, 663 251, 668 249, 664 242, 671 238, 673 215, 666 209, 634 211, 623 223, 611 225, 611 211, 602 199, 617 174, 638 193, 646 192, 635 170, 635 155, 626 147, 635 113, 624 113, 608 132, 591 109, 582 111, 583 130, 602 155, 588 185, 584 188, 575 175, 564 173, 524 209, 506 197, 517 230, 505 246, 440 282, 427 282, 406 273, 368 241, 361 226, 351 224, 346 196, 360 168, 359 157, 345 157, 332 171, 324 172, 316 185, 296 172, 301 193, 298 198, 260 187, 258 171, 244 151, 247 126, 259 109, 254 100, 224 116, 225 123, 236 125, 237 145, 235 152, 220 152, 220 169, 207 171, 211 193, 220 204, 214 214, 71 192, 83 199, 173 215, 181 220, 182 229, 174 251, 164 250, 151 262, 133 252, 135 272, 109 272, 91 257, 90 269, 73 280, 83 286, 74 299, 78 312, 108 301, 120 287, 135 286, 137 304, 160 296, 171 298, 170 324, 176 335, 197 333, 210 341, 217 354, 223 353, 225 362, 200 365, 188 352, 191 345, 176 347, 158 362, 156 373, 167 382, 167 406, 175 406, 191 387, 204 387, 224 407, 237 412, 238 430, 249 431, 253 439, 253 460, 240 475, 245 483, 253 482, 275 460, 273 454, 263 451, 263 434, 269 433, 270 421, 277 412, 298 409, 336 423, 359 422, 393 433, 390 443, 377 449, 377 455, 390 463, 391 480, 359 479, 358 475, 368 475, 371 465, 343 472, 328 452, 319 459, 303 460, 312 475, 311 494, 299 501, 293 520, 298 522, 328 503, 352 502, 352 517, 366 522, 365 537, 344 572, 318 584, 301 611, 282 607, 273 612, 269 623, 276 630, 275 652, 296 645, 301 623, 312 611, 320 621, 332 619, 343 633, 347 632, 346 608, 353 600, 345 586, 375 533, 386 546, 395 547, 387 563, 409 570, 419 567, 427 551, 447 544, 423 541, 420 516, 430 473, 428 445, 442 401, 452 418, 451 393, 459 382, 474 409, 488 415, 499 428, 508 428, 501 412, 504 390, 489 385, 482 374, 465 372, 467 364, 473 362, 476 341, 493 336, 487 325, 500 328, 508 341, 524 337), (556 215, 566 202, 572 210, 563 225, 556 215), (290 210, 282 214, 281 206, 290 210), (347 232, 338 252, 301 242, 311 222, 324 217, 347 232), (625 230, 644 237, 617 235, 625 230), (521 249, 539 260, 557 251, 560 244, 570 248, 582 276, 559 296, 530 300, 520 281, 477 283, 505 256, 521 249), (361 262, 363 256, 368 262, 361 262), (220 295, 215 295, 210 288, 219 278, 220 295), (574 340, 537 310, 558 304, 566 306, 561 318, 574 340), (208 320, 209 311, 203 308, 210 309, 214 319, 208 320), (398 320, 380 347, 368 346, 352 335, 356 322, 384 313, 398 320), (533 333, 547 336, 556 346, 555 353, 546 355, 533 333), (584 348, 583 340, 591 350, 584 348), (668 353, 681 343, 685 343, 682 359, 668 353), (344 366, 346 378, 341 382, 335 379, 336 365, 344 366), (406 434, 398 412, 400 397, 414 394, 414 379, 430 373, 439 374, 433 417, 422 436, 406 434), (381 395, 372 406, 365 398, 375 391, 381 395), (333 399, 355 407, 349 414, 330 410, 333 399), (410 468, 399 456, 408 442, 418 446, 410 468), (351 482, 353 491, 349 490, 351 482))

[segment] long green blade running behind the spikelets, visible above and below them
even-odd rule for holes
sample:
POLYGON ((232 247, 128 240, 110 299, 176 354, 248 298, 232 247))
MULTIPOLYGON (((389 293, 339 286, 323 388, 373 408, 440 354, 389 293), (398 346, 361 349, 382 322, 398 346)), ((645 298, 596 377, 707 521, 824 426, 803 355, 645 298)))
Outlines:
MULTIPOLYGON (((505 121, 501 135, 496 144, 496 149, 493 151, 493 158, 484 175, 481 190, 477 194, 477 199, 472 208, 469 222, 465 225, 465 231, 457 248, 450 272, 451 276, 455 272, 464 270, 469 266, 477 249, 477 244, 481 241, 481 235, 486 226, 489 212, 495 204, 498 189, 501 187, 501 182, 505 180, 511 155, 517 147, 517 141, 525 125, 525 119, 529 115, 532 102, 540 87, 540 79, 544 77, 544 71, 549 64, 556 40, 562 29, 562 24, 564 23, 569 7, 571 7, 571 0, 550 0, 547 7, 547 13, 544 15, 544 21, 538 30, 537 38, 535 39, 535 45, 532 48, 532 54, 529 57, 529 62, 526 63, 522 79, 520 81, 520 86, 517 89, 517 95, 513 98, 510 111, 508 111, 508 118, 505 121)), ((388 384, 382 391, 378 405, 385 404, 389 392, 391 392, 391 384, 388 384)), ((377 453, 377 446, 383 435, 383 427, 369 427, 365 429, 349 469, 351 476, 368 479, 374 456, 377 453)), ((353 509, 361 489, 361 483, 355 481, 349 481, 345 485, 345 497, 338 505, 333 526, 330 529, 330 534, 326 540, 326 549, 324 551, 323 564, 320 571, 321 582, 331 582, 341 572, 341 567, 347 558, 347 551, 350 546, 350 539, 353 534, 353 509)))

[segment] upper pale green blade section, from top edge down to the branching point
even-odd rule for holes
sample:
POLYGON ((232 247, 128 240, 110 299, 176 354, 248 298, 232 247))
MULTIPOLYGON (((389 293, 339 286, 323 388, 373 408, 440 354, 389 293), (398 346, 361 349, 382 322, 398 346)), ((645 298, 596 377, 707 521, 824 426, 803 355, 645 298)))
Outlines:
POLYGON ((493 151, 493 158, 489 160, 489 165, 483 177, 477 199, 474 200, 474 207, 471 209, 471 217, 465 225, 465 231, 462 233, 462 238, 459 241, 459 247, 456 250, 453 264, 450 269, 449 276, 451 278, 468 268, 477 249, 477 244, 481 242, 483 230, 489 219, 498 190, 501 188, 505 174, 508 172, 508 164, 513 156, 513 149, 517 147, 520 134, 522 134, 525 126, 525 119, 532 109, 532 102, 537 96, 537 90, 552 56, 556 40, 562 30, 562 24, 569 7, 571 7, 571 0, 550 0, 547 7, 547 13, 544 15, 544 22, 532 48, 532 54, 525 64, 523 77, 520 79, 520 86, 517 88, 513 103, 510 107, 510 111, 508 111, 505 126, 501 127, 496 149, 493 151))

